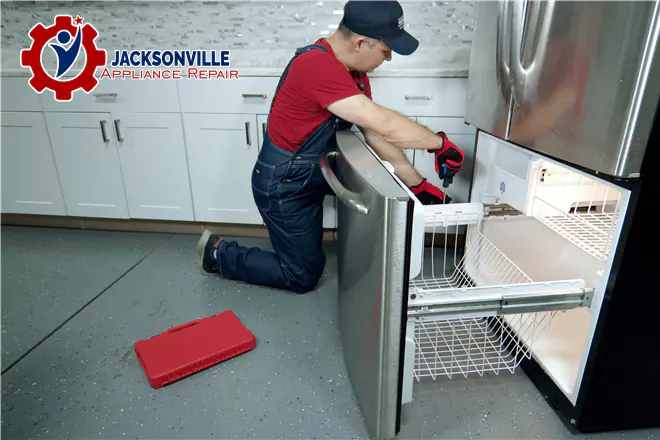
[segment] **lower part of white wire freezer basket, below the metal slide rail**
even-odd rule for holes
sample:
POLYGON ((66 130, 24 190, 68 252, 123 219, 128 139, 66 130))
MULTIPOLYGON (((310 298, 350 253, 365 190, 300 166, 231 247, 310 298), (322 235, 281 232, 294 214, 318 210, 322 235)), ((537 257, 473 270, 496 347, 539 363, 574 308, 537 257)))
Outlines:
POLYGON ((417 321, 414 377, 514 373, 556 312, 417 321), (515 328, 515 333, 513 331, 515 328))

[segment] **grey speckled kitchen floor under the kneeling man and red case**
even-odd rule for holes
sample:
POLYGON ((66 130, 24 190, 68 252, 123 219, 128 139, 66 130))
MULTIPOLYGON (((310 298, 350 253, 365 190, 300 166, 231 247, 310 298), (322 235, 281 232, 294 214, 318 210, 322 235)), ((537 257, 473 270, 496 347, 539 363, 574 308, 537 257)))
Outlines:
MULTIPOLYGON (((366 438, 336 316, 336 247, 295 295, 201 275, 193 235, 2 228, 2 437, 366 438), (152 389, 133 344, 232 310, 255 350, 152 389)), ((268 247, 268 240, 241 243, 268 247)), ((524 373, 416 385, 400 438, 573 435, 524 373)))

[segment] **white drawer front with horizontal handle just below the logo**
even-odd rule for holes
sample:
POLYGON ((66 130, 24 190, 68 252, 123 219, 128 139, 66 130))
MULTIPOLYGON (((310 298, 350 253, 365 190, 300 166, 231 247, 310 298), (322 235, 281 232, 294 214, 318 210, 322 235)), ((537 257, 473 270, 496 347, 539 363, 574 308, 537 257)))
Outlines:
POLYGON ((89 94, 73 92, 69 102, 55 101, 49 91, 41 96, 44 110, 76 112, 177 113, 180 111, 174 80, 102 79, 89 94))

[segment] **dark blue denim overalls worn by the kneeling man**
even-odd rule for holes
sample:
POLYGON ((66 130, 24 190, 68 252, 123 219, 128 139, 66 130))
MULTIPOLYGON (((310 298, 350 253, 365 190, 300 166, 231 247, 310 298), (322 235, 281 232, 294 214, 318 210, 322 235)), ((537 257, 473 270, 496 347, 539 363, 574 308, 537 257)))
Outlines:
MULTIPOLYGON (((296 50, 280 78, 273 102, 293 61, 312 49, 327 52, 320 45, 296 50)), ((221 276, 296 293, 314 289, 326 261, 322 249, 323 199, 332 194, 319 159, 337 148, 336 132, 343 126, 345 121, 332 115, 295 153, 279 148, 265 134, 252 171, 252 194, 275 252, 223 241, 218 252, 221 276)))

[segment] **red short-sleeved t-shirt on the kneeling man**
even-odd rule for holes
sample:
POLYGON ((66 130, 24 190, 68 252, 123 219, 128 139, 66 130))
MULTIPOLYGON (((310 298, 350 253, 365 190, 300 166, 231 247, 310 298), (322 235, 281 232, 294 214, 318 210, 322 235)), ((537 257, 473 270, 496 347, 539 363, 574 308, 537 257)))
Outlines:
POLYGON ((296 58, 270 112, 268 135, 275 145, 287 151, 296 151, 332 115, 326 109, 328 105, 362 93, 358 82, 371 99, 366 73, 358 78, 355 72, 349 72, 325 39, 314 44, 324 46, 328 52, 314 48, 296 58))

